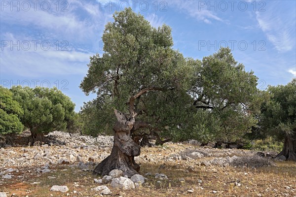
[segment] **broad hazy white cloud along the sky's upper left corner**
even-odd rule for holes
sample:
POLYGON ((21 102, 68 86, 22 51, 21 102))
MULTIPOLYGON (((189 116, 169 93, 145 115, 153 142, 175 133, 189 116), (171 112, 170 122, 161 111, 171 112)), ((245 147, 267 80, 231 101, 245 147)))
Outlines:
MULTIPOLYGON (((49 2, 49 1, 47 1, 49 2)), ((37 6, 28 11, 1 11, 1 22, 13 25, 13 28, 32 27, 39 36, 55 39, 73 39, 75 41, 89 40, 102 32, 109 15, 100 12, 98 5, 91 1, 68 1, 68 11, 57 11, 55 1, 50 1, 49 11, 43 11, 37 6), (84 12, 82 12, 84 10, 84 12), (77 14, 79 13, 79 14, 77 14)), ((59 9, 63 6, 60 5, 59 9)))

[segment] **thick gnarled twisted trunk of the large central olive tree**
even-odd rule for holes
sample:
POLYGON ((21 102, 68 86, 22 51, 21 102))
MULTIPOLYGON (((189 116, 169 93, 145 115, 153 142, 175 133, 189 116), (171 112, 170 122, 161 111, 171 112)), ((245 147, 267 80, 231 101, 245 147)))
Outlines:
POLYGON ((131 177, 140 171, 140 165, 136 164, 134 158, 140 155, 141 147, 130 135, 135 119, 132 115, 126 115, 117 110, 114 112, 117 122, 113 127, 114 142, 111 154, 98 164, 93 172, 104 176, 113 169, 120 169, 123 171, 123 176, 131 177))

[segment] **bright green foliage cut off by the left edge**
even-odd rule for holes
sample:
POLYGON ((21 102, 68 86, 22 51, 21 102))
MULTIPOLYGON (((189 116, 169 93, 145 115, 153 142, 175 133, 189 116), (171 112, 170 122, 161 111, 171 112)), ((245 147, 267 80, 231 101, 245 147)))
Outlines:
POLYGON ((12 98, 12 93, 0 86, 0 134, 23 131, 24 126, 19 120, 23 113, 20 104, 12 98))

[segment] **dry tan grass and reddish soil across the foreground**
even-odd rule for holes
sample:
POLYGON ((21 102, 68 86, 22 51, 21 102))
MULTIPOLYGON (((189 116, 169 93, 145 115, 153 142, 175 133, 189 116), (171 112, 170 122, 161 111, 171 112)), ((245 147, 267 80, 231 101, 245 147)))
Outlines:
MULTIPOLYGON (((142 155, 161 154, 170 155, 176 150, 185 149, 182 145, 167 145, 164 150, 162 147, 143 148, 142 155)), ((210 160, 211 158, 209 158, 210 160)), ((258 195, 277 196, 277 197, 295 197, 296 196, 296 163, 295 162, 277 162, 276 166, 267 166, 262 168, 248 167, 220 167, 220 166, 198 166, 195 160, 190 163, 194 171, 187 171, 189 166, 186 161, 176 161, 175 163, 163 164, 161 160, 154 162, 143 162, 141 164, 142 175, 150 172, 152 176, 140 186, 139 189, 122 191, 111 189, 111 196, 122 197, 258 197, 258 195), (161 166, 161 167, 160 167, 161 166), (168 180, 154 178, 155 173, 164 173, 168 180), (183 179, 183 180, 182 180, 183 179), (198 183, 198 179, 202 183, 198 183), (239 182, 241 186, 236 186, 239 182), (187 190, 194 190, 192 194, 187 190), (214 193, 216 191, 217 193, 214 193)), ((27 176, 25 180, 16 178, 7 180, 0 185, 0 191, 9 192, 9 196, 14 197, 64 197, 66 194, 59 192, 50 192, 52 185, 67 185, 70 189, 70 197, 94 197, 97 192, 91 190, 98 186, 93 179, 98 176, 91 172, 81 171, 78 168, 70 168, 66 165, 51 166, 52 172, 40 174, 40 176, 27 176), (63 171, 67 169, 67 171, 63 171), (48 176, 54 176, 56 179, 48 179, 48 176), (33 182, 40 182, 32 185, 33 182), (75 184, 79 186, 76 187, 75 184), (74 194, 74 191, 79 192, 74 194)), ((21 169, 19 174, 22 173, 21 169)))

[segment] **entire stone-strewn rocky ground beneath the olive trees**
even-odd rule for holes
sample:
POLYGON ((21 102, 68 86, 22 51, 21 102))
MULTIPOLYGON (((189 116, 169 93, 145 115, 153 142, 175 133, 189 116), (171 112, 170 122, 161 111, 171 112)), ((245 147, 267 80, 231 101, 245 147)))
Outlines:
POLYGON ((268 154, 262 158, 255 151, 192 141, 145 147, 136 157, 145 181, 133 183, 120 175, 91 173, 111 153, 111 136, 54 131, 47 137, 49 145, 18 146, 17 138, 11 139, 14 146, 0 149, 0 197, 296 197, 296 163, 274 161, 268 154), (124 190, 123 182, 134 189, 124 190))

